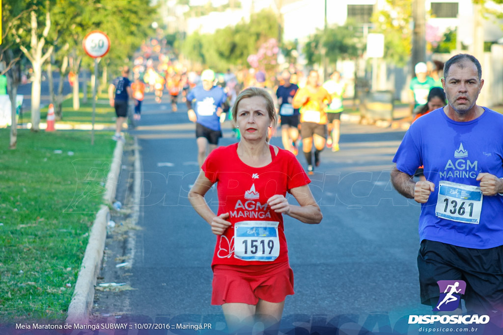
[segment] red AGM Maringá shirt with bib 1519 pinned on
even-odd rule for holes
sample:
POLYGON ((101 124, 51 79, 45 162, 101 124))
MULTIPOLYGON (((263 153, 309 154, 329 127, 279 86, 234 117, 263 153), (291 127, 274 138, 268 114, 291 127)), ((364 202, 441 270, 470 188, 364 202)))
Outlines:
POLYGON ((237 155, 237 143, 219 147, 205 160, 206 178, 217 183, 218 213, 229 213, 232 226, 217 236, 212 266, 269 265, 288 262, 283 216, 267 200, 295 187, 307 185, 299 161, 287 150, 270 146, 272 162, 263 167, 244 164, 237 155), (277 225, 275 227, 271 227, 277 225), (237 233, 237 237, 235 236, 237 233))

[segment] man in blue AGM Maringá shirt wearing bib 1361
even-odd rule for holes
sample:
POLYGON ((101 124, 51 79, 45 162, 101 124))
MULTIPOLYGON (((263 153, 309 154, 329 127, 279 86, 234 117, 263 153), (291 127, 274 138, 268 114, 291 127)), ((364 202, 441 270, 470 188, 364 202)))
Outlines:
POLYGON ((503 116, 476 104, 481 75, 471 55, 447 61, 442 84, 449 103, 410 126, 393 158, 391 181, 399 193, 421 203, 417 266, 422 303, 438 305, 437 281, 464 280, 467 310, 499 319, 503 116), (414 183, 421 165, 427 180, 414 183))

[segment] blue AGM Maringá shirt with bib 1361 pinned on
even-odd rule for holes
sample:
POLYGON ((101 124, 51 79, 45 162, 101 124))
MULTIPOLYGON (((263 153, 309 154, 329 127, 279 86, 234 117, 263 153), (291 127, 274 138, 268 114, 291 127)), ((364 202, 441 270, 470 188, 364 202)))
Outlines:
POLYGON ((503 177, 503 115, 484 107, 477 119, 455 122, 436 109, 410 126, 393 162, 408 175, 424 165, 435 184, 421 205, 421 241, 475 249, 503 245, 503 196, 481 196, 473 187, 480 186, 481 172, 503 177))

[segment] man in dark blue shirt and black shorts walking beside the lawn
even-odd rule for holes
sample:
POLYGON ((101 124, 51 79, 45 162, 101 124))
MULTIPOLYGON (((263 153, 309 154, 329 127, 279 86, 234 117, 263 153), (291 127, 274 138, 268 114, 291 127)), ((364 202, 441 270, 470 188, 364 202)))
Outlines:
POLYGON ((117 116, 115 122, 115 135, 113 136, 115 141, 124 141, 124 138, 121 136, 122 124, 127 118, 127 101, 129 97, 133 95, 131 81, 128 76, 129 67, 124 66, 122 69, 122 76, 115 78, 108 87, 110 105, 115 107, 115 115, 117 116))

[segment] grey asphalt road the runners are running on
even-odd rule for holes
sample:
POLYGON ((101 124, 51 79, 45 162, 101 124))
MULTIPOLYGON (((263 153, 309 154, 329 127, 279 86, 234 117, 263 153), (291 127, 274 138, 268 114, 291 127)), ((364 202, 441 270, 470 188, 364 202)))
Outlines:
MULTIPOLYGON (((195 126, 184 103, 172 113, 165 100, 157 104, 149 95, 131 132, 143 172, 142 230, 135 233, 132 267, 124 270, 134 290, 102 296, 95 313, 124 322, 218 323, 221 308, 210 305, 215 237, 187 200, 198 174, 195 126)), ((235 143, 228 122, 224 128, 220 145, 235 143)), ((281 147, 278 135, 271 143, 281 147)), ((323 221, 305 225, 285 218, 296 294, 286 298, 282 325, 346 320, 356 333, 362 325, 391 331, 406 326, 400 318, 430 313, 420 303, 416 267, 420 207, 389 182, 403 135, 343 123, 341 150, 322 152, 310 188, 323 221)), ((297 158, 305 168, 304 157, 297 158)), ((216 191, 207 201, 216 211, 216 191)))

